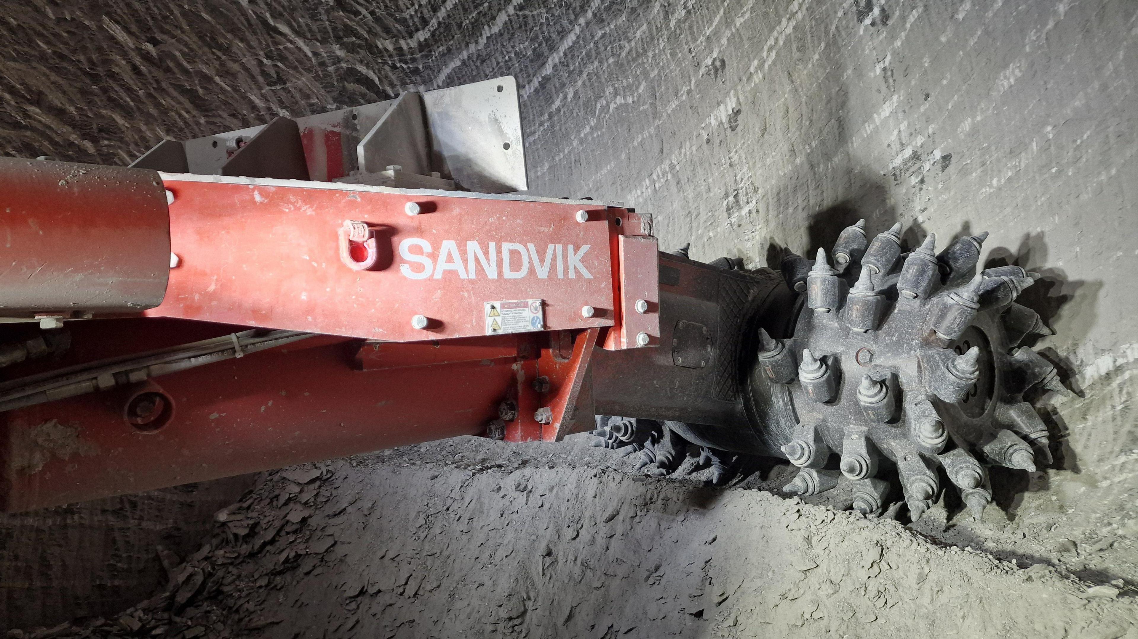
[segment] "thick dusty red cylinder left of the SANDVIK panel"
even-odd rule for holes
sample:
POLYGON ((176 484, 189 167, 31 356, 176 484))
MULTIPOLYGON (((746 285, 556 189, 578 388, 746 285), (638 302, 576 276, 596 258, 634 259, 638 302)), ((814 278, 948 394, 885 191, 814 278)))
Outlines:
POLYGON ((0 158, 0 309, 137 312, 170 269, 166 193, 154 171, 0 158))

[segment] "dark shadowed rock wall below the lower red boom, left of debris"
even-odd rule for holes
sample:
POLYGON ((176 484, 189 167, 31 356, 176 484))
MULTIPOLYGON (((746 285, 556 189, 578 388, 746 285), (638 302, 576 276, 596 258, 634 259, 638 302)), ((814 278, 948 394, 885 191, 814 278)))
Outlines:
POLYGON ((0 629, 112 615, 164 580, 156 549, 184 555, 254 475, 0 514, 0 629))

